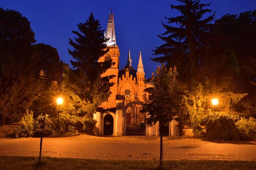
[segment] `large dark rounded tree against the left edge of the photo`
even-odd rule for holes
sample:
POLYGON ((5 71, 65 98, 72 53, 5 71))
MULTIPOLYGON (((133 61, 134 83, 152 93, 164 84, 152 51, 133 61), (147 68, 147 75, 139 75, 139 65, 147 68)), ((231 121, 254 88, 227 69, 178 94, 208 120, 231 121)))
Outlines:
POLYGON ((35 34, 28 19, 0 8, 0 125, 20 121, 36 99, 35 34))

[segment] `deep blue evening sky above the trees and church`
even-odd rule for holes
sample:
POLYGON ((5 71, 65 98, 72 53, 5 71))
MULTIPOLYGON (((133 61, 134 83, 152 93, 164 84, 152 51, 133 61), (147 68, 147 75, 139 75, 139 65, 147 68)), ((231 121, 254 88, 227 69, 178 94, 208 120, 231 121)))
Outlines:
MULTIPOLYGON (((0 0, 0 7, 20 11, 31 22, 37 42, 57 48, 60 58, 67 63, 72 59, 67 52, 68 38, 74 37, 71 31, 77 30, 77 24, 84 23, 90 12, 105 30, 113 8, 120 69, 126 64, 129 47, 132 66, 137 69, 141 50, 145 76, 149 78, 159 65, 149 57, 156 46, 163 44, 157 38, 157 34, 165 31, 161 20, 165 22, 165 16, 179 15, 171 10, 171 3, 178 4, 176 0, 0 0)), ((256 9, 256 0, 201 0, 201 3, 211 3, 209 8, 216 11, 216 19, 227 13, 256 9)))

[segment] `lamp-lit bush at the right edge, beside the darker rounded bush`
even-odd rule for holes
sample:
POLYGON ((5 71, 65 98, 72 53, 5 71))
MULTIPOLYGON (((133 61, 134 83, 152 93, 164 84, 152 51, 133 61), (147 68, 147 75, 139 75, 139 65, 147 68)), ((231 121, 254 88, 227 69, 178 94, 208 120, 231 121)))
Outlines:
POLYGON ((239 130, 240 139, 256 140, 256 119, 253 117, 249 119, 241 118, 236 122, 236 127, 239 130))

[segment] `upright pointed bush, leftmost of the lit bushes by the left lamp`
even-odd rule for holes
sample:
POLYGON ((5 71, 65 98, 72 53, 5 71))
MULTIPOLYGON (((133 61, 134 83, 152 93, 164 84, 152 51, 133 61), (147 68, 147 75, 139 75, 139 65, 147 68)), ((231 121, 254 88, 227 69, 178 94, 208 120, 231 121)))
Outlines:
POLYGON ((33 112, 26 110, 26 114, 22 117, 20 125, 14 130, 15 138, 33 136, 33 127, 33 112))

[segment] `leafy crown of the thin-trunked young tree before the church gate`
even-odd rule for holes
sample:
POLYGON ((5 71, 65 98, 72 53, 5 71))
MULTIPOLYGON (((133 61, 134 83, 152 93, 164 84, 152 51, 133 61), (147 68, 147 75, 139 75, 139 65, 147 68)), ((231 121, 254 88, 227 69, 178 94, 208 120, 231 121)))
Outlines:
POLYGON ((146 101, 140 111, 148 113, 146 120, 148 126, 155 125, 157 122, 167 125, 179 113, 182 99, 177 88, 178 73, 176 67, 167 69, 162 64, 161 68, 158 66, 156 74, 157 76, 152 75, 151 77, 154 86, 146 89, 151 94, 152 100, 146 101))

